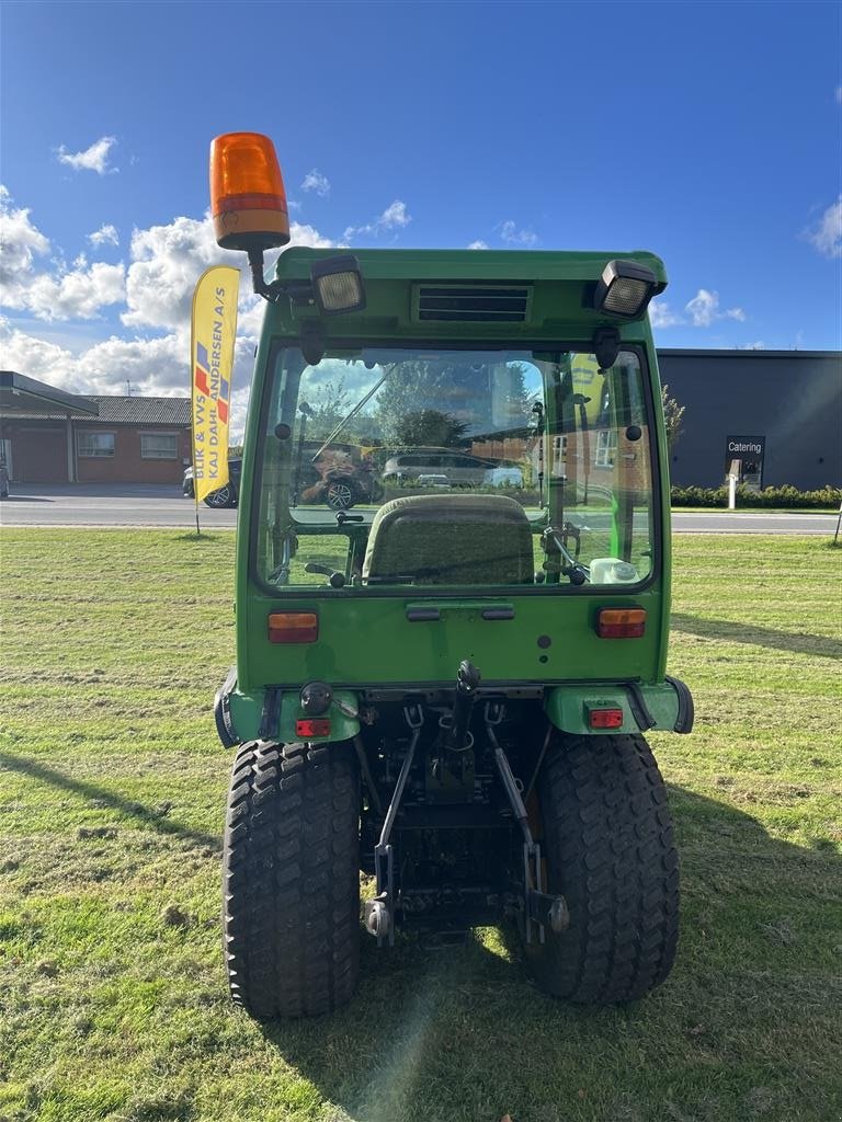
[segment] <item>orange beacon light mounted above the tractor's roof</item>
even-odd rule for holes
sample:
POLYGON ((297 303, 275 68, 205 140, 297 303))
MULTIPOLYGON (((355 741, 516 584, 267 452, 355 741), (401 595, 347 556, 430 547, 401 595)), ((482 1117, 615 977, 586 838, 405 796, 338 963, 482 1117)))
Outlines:
POLYGON ((290 240, 286 192, 275 146, 262 132, 211 140, 211 214, 223 249, 272 249, 290 240))

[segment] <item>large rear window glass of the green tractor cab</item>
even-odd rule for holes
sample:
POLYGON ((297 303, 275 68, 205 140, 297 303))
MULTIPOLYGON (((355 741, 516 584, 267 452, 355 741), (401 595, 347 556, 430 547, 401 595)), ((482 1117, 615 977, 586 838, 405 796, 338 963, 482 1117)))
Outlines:
POLYGON ((576 346, 503 346, 475 328, 463 346, 326 341, 313 362, 278 344, 257 458, 260 583, 557 596, 647 581, 644 351, 605 369, 576 346))

